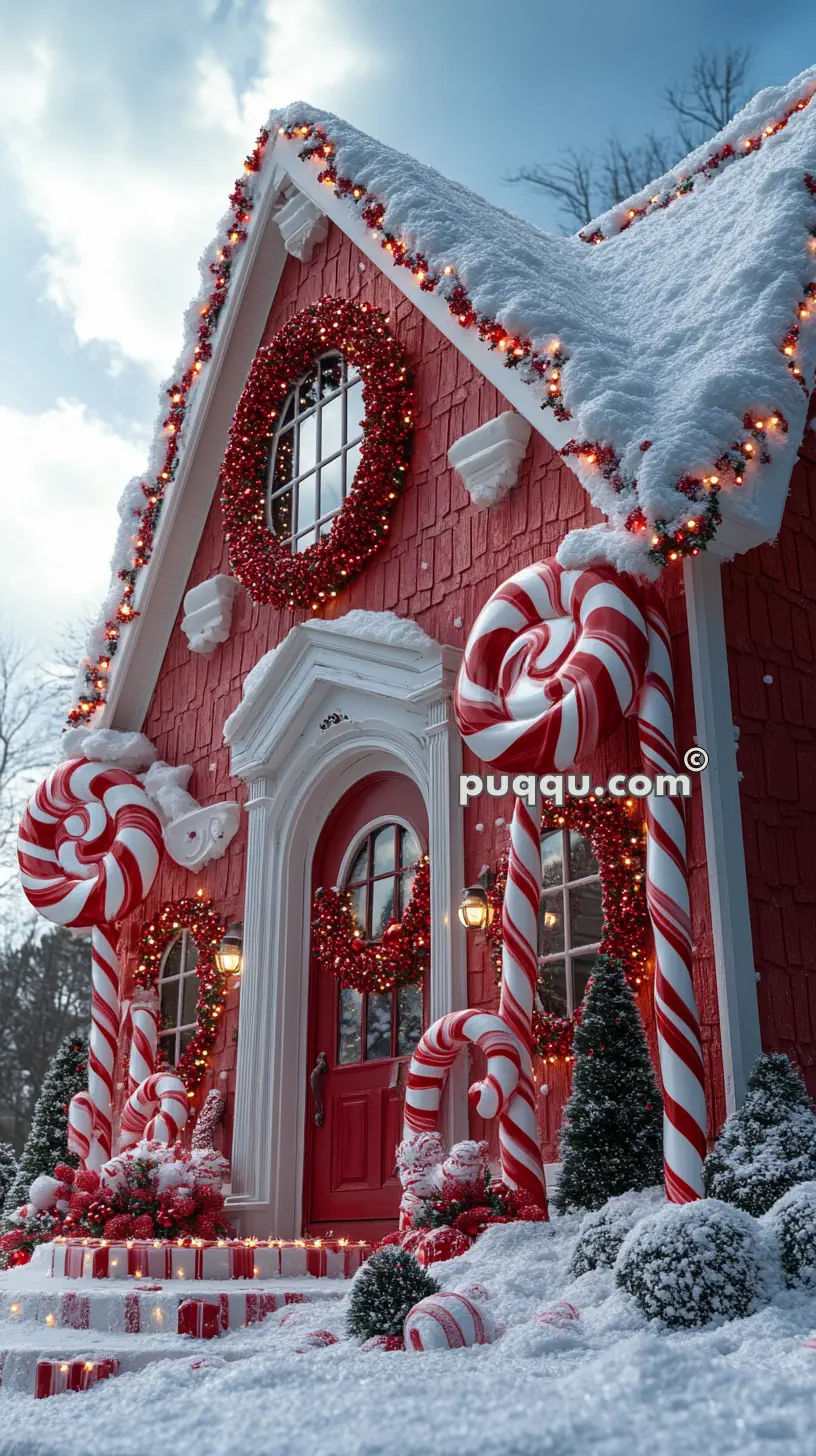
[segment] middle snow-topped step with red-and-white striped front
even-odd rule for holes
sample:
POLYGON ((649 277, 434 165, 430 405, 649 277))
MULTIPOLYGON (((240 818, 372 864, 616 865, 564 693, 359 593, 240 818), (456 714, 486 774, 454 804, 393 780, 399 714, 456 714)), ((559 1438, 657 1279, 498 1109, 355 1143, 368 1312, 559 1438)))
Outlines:
POLYGON ((188 1299, 219 1306, 221 1331, 258 1325, 287 1305, 342 1299, 344 1280, 310 1278, 223 1281, 133 1281, 131 1286, 77 1290, 73 1280, 3 1280, 0 1284, 0 1348, 6 1332, 20 1325, 47 1329, 93 1329, 109 1334, 160 1335, 178 1332, 178 1309, 188 1299))

